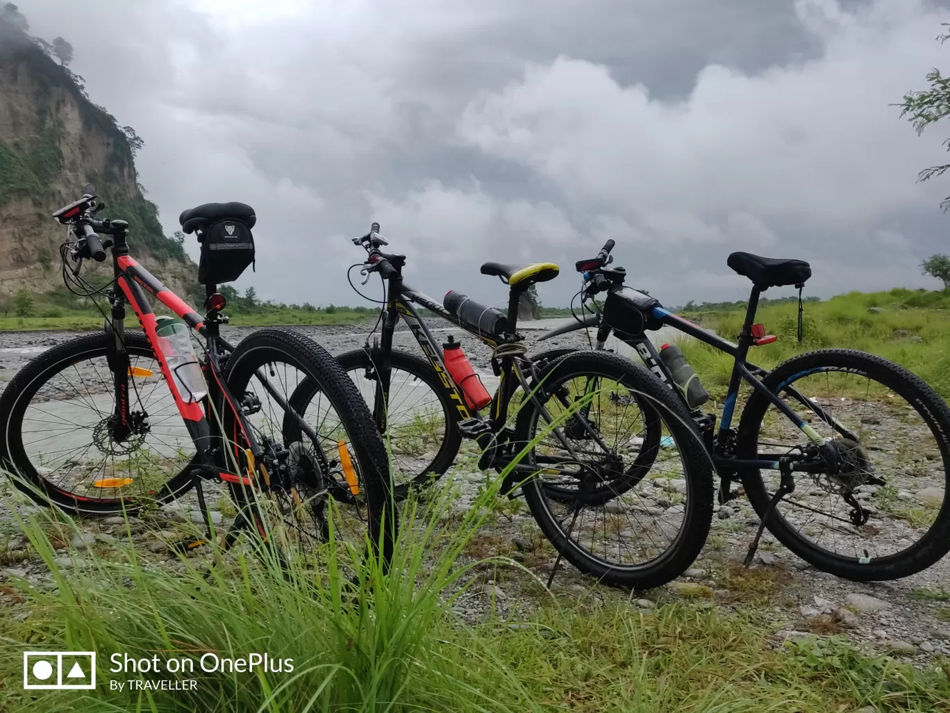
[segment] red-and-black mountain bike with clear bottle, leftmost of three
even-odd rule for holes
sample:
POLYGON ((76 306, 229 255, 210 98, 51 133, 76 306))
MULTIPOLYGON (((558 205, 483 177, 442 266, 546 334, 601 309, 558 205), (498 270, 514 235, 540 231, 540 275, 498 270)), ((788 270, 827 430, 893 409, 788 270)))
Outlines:
MULTIPOLYGON (((87 185, 83 198, 54 214, 69 230, 61 249, 66 286, 104 296, 109 309, 104 331, 34 358, 0 397, 0 462, 19 475, 16 485, 40 504, 82 515, 134 514, 194 489, 210 532, 210 484, 237 505, 234 523, 219 529, 225 546, 242 529, 281 549, 326 542, 335 508, 337 538, 362 543, 369 535, 388 557, 396 520, 386 452, 333 357, 280 329, 229 344, 219 334, 225 299, 207 278, 215 260, 234 275, 250 259, 236 266, 224 250, 202 255, 201 317, 129 255, 127 222, 95 217, 103 205, 87 185), (109 247, 113 279, 97 288, 82 278, 82 265, 104 261, 109 247), (157 317, 146 293, 178 319, 157 317), (142 332, 125 329, 126 305, 142 332), (198 355, 190 330, 204 337, 198 355), (288 401, 304 380, 314 398, 297 411, 288 401)), ((181 222, 207 242, 218 228, 249 236, 255 215, 243 203, 208 203, 181 222)), ((170 544, 192 549, 206 536, 170 544)))

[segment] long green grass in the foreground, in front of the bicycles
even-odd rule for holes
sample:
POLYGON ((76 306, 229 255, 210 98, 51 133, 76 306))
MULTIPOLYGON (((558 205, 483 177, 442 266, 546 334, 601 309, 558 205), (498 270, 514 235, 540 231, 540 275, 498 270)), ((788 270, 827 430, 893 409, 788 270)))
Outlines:
MULTIPOLYGON (((652 612, 625 597, 555 599, 525 607, 517 625, 497 617, 469 625, 453 604, 470 594, 475 564, 466 542, 496 502, 497 482, 461 527, 447 517, 450 492, 413 503, 389 574, 367 563, 358 586, 333 569, 317 576, 240 551, 208 572, 142 562, 121 546, 63 568, 46 535, 48 515, 23 520, 47 563, 51 587, 17 582, 25 622, 3 623, 4 711, 930 711, 950 705, 939 669, 918 671, 867 657, 840 640, 775 650, 765 620, 676 603, 652 612), (20 690, 25 649, 96 650, 95 692, 20 690), (199 657, 267 652, 294 671, 202 672, 199 657), (110 655, 196 661, 194 674, 112 673, 110 655), (197 680, 195 690, 111 690, 110 680, 197 680), (32 695, 30 695, 32 693, 32 695)), ((75 523, 71 523, 73 526, 75 523)), ((334 545, 342 547, 342 545, 334 545)), ((494 558, 495 567, 520 567, 494 558)), ((529 576, 526 573, 524 576, 529 576)))

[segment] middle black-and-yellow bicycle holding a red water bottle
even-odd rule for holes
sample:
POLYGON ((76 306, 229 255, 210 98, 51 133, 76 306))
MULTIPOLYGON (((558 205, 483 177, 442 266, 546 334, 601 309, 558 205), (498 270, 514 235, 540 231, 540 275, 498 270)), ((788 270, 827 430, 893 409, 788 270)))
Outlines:
MULTIPOLYGON (((710 529, 712 466, 688 410, 628 359, 594 352, 550 360, 525 355, 519 302, 530 285, 556 277, 558 266, 485 263, 483 274, 508 285, 507 314, 459 295, 447 299, 447 309, 409 286, 405 256, 383 252, 388 243, 378 231, 374 223, 353 242, 369 254, 354 267, 367 279, 380 275, 387 286, 380 335, 338 359, 390 442, 397 496, 447 471, 461 440, 470 438, 481 450, 479 468, 510 469, 503 492, 514 496, 521 484, 559 552, 552 577, 561 555, 621 587, 656 587, 689 568, 710 529), (491 348, 499 379, 493 397, 466 368, 459 342, 448 337, 440 345, 416 304, 491 348), (399 319, 425 358, 393 348, 399 319), (655 490, 654 477, 677 485, 668 510, 640 497, 640 490, 655 490), (557 484, 548 486, 549 480, 557 484), (641 488, 632 489, 632 481, 642 481, 641 488)), ((304 384, 291 406, 305 410, 312 396, 304 384)))

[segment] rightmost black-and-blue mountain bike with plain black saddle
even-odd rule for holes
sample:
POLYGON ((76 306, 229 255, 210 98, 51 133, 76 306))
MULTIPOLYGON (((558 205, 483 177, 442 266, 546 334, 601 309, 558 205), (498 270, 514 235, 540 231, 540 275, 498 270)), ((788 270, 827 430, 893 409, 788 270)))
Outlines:
POLYGON ((901 366, 853 350, 807 352, 769 372, 747 361, 751 348, 776 338, 754 323, 769 287, 799 289, 801 341, 807 262, 731 254, 729 266, 753 285, 733 344, 625 286, 623 268, 609 267, 613 245, 608 241, 597 258, 576 265, 582 302, 606 293, 596 313, 541 338, 596 327, 603 349, 614 332, 689 404, 720 478, 719 502, 744 492, 761 518, 747 563, 763 528, 815 567, 853 580, 905 577, 950 551, 950 409, 940 395, 901 366), (734 357, 718 428, 715 414, 700 410, 705 391, 697 389, 692 369, 683 369, 685 359, 657 351, 646 336, 663 326, 734 357), (732 428, 744 381, 751 394, 732 428))

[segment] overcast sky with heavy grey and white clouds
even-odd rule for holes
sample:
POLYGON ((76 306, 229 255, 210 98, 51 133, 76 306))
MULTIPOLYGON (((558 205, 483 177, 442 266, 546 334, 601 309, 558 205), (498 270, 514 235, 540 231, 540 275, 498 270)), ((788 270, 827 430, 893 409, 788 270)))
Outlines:
POLYGON ((820 297, 936 289, 921 260, 950 253, 950 178, 916 183, 950 121, 918 136, 892 106, 950 70, 950 0, 18 4, 142 136, 168 235, 255 207, 236 286, 264 299, 362 303, 349 239, 373 221, 413 287, 492 303, 485 260, 559 263, 539 292, 566 305, 608 238, 667 305, 747 296, 735 250, 808 260, 820 297))

